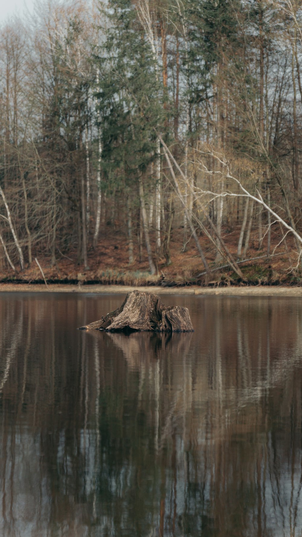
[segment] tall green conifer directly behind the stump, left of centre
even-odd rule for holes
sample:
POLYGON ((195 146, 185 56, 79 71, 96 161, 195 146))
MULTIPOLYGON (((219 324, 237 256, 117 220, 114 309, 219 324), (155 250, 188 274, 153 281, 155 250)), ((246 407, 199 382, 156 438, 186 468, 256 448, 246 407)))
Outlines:
POLYGON ((146 214, 148 171, 156 158, 156 130, 163 132, 167 112, 135 6, 129 0, 110 2, 106 16, 109 30, 97 60, 105 183, 111 191, 123 188, 139 199, 150 272, 155 273, 146 214))

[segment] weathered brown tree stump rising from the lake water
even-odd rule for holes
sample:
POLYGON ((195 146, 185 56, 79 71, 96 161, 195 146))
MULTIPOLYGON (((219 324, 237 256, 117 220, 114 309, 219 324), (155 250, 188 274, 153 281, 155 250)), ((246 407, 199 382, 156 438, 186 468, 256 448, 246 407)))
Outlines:
POLYGON ((153 293, 132 291, 123 304, 99 321, 81 326, 80 330, 122 330, 154 332, 193 332, 188 308, 164 306, 153 293))

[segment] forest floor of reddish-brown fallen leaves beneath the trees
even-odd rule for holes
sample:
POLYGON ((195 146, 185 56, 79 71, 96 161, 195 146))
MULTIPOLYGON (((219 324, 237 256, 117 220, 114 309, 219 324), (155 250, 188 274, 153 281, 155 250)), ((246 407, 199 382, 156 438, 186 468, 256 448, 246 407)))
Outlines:
MULTIPOLYGON (((62 291, 63 286, 66 287, 68 284, 76 285, 77 288, 84 287, 87 291, 88 286, 99 285, 160 286, 163 288, 163 292, 167 292, 169 287, 191 286, 199 288, 300 286, 302 277, 292 268, 293 265, 297 264, 297 251, 294 249, 294 242, 287 236, 286 244, 283 242, 274 250, 275 246, 282 240, 282 236, 278 234, 278 231, 279 228, 275 230, 275 233, 274 228, 272 230, 271 256, 267 255, 266 237, 259 249, 256 232, 255 236, 251 236, 248 260, 240 263, 244 279, 240 279, 229 266, 224 266, 226 262, 223 259, 220 262, 222 266, 217 270, 218 265, 215 264, 214 246, 205 235, 201 235, 199 237, 200 244, 206 253, 208 263, 213 268, 211 279, 206 279, 204 266, 195 242, 191 238, 186 244, 185 251, 183 251, 183 230, 178 229, 173 231, 171 238, 171 264, 169 266, 165 264, 162 254, 155 256, 158 272, 154 276, 149 273, 146 249, 144 247, 141 249, 142 255, 140 259, 139 248, 135 244, 134 263, 129 265, 127 237, 125 234, 118 233, 111 228, 106 228, 106 234, 100 236, 96 250, 92 249, 92 247, 89 248, 89 271, 84 270, 83 264, 77 263, 77 252, 71 248, 64 252, 57 250, 56 263, 53 266, 51 266, 50 258, 40 255, 38 256, 38 261, 47 283, 62 286, 60 287, 62 291)), ((232 233, 224 231, 224 240, 235 258, 237 257, 239 233, 239 228, 234 229, 232 233)), ((9 268, 5 267, 4 264, 0 267, 0 282, 2 284, 13 284, 13 286, 16 286, 16 284, 44 284, 41 271, 34 260, 31 266, 26 266, 24 271, 19 270, 14 273, 9 268)), ((3 285, 1 285, 1 289, 3 289, 3 285)), ((97 291, 96 288, 95 291, 97 291)))

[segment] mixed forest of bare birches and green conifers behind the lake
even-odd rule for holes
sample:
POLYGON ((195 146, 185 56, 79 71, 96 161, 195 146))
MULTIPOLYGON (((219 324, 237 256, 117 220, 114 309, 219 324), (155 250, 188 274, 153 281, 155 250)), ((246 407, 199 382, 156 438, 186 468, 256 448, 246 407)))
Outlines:
POLYGON ((299 0, 46 0, 0 50, 2 281, 299 284, 299 0))

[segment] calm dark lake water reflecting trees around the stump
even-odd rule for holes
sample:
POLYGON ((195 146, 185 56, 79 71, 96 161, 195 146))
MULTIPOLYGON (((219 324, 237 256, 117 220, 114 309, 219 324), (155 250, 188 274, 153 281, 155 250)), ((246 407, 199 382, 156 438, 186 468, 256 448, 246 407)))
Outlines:
POLYGON ((76 330, 124 296, 0 294, 0 535, 299 537, 302 301, 162 296, 194 333, 76 330))

